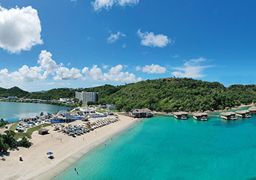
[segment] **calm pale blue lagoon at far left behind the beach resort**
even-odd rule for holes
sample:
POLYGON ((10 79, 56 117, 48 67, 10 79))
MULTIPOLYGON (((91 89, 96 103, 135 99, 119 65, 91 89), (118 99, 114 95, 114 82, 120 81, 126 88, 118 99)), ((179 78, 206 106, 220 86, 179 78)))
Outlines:
POLYGON ((22 117, 38 116, 41 112, 57 112, 68 109, 51 104, 24 103, 24 102, 0 102, 0 118, 8 122, 17 122, 22 117))

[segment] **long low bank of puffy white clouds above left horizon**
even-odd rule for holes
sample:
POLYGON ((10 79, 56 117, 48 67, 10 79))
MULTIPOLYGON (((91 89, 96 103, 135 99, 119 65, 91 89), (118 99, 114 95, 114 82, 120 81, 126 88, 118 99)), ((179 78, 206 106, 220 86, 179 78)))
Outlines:
MULTIPOLYGON (((46 50, 42 50, 37 60, 38 66, 29 67, 22 66, 17 71, 9 73, 8 69, 0 70, 0 83, 13 81, 15 83, 32 82, 32 81, 73 81, 76 79, 89 79, 94 81, 115 81, 115 82, 136 82, 141 81, 141 78, 136 78, 133 73, 123 71, 125 66, 117 65, 109 68, 103 65, 103 71, 97 65, 92 68, 84 67, 67 68, 63 63, 57 64, 52 59, 52 54, 46 50), (108 69, 108 70, 107 70, 108 69)), ((50 84, 48 84, 50 85, 50 84)))

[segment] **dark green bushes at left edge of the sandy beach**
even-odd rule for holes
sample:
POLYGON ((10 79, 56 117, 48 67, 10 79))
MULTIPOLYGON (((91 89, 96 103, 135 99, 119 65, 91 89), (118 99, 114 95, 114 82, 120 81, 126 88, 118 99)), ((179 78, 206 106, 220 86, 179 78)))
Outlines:
POLYGON ((16 144, 14 138, 15 134, 16 133, 12 130, 6 130, 4 135, 0 134, 0 153, 6 153, 9 148, 15 148, 17 146, 30 148, 31 143, 25 137, 22 137, 19 144, 16 144))

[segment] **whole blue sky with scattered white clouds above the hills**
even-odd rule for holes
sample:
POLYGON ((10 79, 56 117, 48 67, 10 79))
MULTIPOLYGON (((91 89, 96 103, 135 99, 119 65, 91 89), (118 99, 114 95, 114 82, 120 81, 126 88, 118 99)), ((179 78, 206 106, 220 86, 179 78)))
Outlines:
POLYGON ((256 1, 0 0, 0 86, 256 84, 256 1))

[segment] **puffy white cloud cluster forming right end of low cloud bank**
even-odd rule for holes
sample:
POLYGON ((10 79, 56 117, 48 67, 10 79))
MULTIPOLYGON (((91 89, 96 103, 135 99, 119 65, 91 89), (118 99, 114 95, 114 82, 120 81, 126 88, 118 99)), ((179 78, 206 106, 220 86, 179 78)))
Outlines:
POLYGON ((85 74, 84 79, 94 80, 94 81, 115 81, 115 82, 136 82, 141 81, 141 78, 136 78, 133 73, 128 71, 123 72, 123 66, 117 65, 112 68, 107 73, 102 73, 101 68, 94 65, 91 69, 84 67, 81 71, 85 74))

